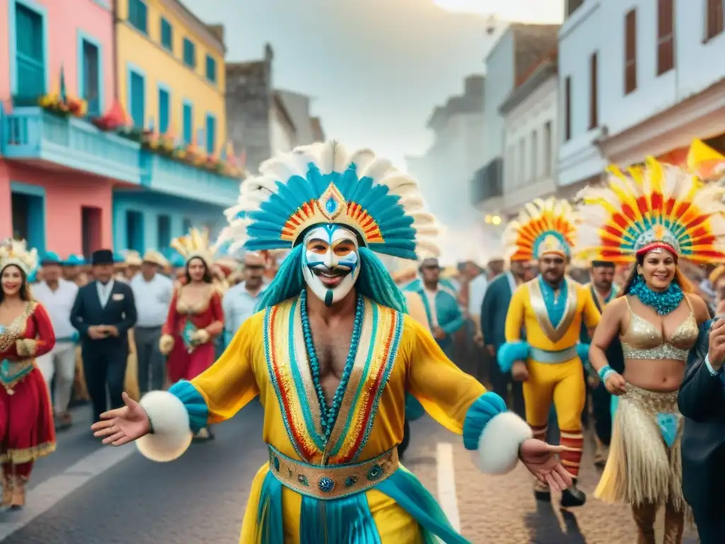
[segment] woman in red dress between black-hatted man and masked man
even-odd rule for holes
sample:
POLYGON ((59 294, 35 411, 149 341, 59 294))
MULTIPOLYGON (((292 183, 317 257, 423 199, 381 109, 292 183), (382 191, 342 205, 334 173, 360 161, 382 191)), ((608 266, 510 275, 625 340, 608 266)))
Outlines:
MULTIPOLYGON (((171 300, 159 349, 168 355, 168 378, 175 384, 181 379, 191 380, 212 366, 214 339, 224 329, 224 313, 212 279, 208 234, 192 228, 188 236, 175 239, 171 247, 186 260, 186 273, 171 300)), ((211 437, 209 429, 196 434, 199 440, 211 437)))

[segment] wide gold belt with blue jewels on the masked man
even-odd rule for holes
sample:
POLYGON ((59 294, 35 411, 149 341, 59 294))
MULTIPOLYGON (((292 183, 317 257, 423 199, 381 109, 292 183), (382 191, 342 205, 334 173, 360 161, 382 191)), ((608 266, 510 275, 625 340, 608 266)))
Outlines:
POLYGON ((302 495, 323 500, 368 490, 393 474, 399 466, 397 448, 362 463, 326 466, 295 461, 272 446, 269 450, 270 471, 282 485, 302 495))

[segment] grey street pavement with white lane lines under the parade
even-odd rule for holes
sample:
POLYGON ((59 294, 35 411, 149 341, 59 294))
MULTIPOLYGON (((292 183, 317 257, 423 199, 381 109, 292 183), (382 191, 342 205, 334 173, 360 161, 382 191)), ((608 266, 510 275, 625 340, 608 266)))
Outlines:
MULTIPOLYGON (((193 444, 171 463, 148 461, 133 445, 101 448, 88 430, 89 411, 75 409, 75 426, 59 433, 57 451, 38 461, 28 506, 0 513, 2 542, 238 543, 249 483, 268 458, 258 403, 215 427, 215 440, 193 444)), ((556 498, 552 505, 537 504, 522 466, 505 477, 486 476, 473 465, 460 437, 427 417, 411 428, 405 465, 472 543, 634 542, 629 509, 591 498, 598 479, 591 447, 581 475, 590 500, 570 513, 555 506, 556 498)), ((689 530, 685 543, 696 542, 689 530)))

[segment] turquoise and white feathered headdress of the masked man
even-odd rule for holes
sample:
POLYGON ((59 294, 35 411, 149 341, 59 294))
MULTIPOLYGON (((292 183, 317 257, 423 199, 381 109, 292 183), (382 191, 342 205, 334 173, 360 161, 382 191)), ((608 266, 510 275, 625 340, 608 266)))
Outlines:
POLYGON ((335 141, 297 147, 260 166, 241 185, 239 204, 218 244, 288 250, 312 226, 352 228, 370 250, 405 259, 439 254, 439 225, 418 182, 369 149, 352 154, 335 141))

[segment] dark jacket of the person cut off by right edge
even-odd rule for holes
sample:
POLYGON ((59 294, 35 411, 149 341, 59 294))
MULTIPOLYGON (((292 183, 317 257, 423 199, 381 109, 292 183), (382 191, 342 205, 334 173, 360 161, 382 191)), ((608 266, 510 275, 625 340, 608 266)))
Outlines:
MULTIPOLYGON (((718 508, 725 516, 725 382, 705 365, 706 348, 690 361, 679 390, 685 416, 682 434, 682 492, 700 511, 718 508)), ((706 345, 706 344, 705 344, 706 345)), ((717 512, 716 512, 717 513, 717 512)))

